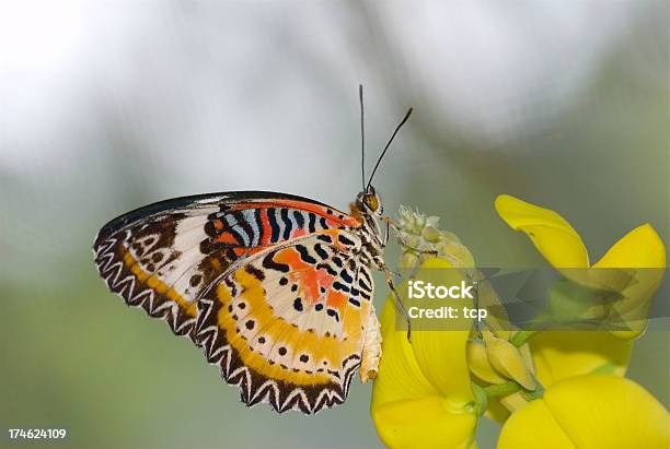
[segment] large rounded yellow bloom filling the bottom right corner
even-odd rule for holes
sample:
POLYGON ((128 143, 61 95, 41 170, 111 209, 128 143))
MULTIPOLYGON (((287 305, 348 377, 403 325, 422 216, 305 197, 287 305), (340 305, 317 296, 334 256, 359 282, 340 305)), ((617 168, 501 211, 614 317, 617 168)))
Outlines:
POLYGON ((562 380, 505 423, 498 449, 667 449, 666 409, 632 380, 587 375, 562 380))

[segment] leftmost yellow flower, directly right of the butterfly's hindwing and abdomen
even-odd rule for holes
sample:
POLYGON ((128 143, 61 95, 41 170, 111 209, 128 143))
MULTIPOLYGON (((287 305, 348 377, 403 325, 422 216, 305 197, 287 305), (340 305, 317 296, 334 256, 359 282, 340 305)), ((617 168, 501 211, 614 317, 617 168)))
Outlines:
MULTIPOLYGON (((421 269, 440 268, 453 265, 436 258, 421 264, 421 269)), ((371 404, 374 426, 386 446, 476 447, 474 430, 481 410, 473 394, 465 351, 471 320, 463 320, 455 324, 463 330, 414 331, 409 342, 406 331, 396 329, 393 300, 386 300, 381 314, 384 355, 371 404)))

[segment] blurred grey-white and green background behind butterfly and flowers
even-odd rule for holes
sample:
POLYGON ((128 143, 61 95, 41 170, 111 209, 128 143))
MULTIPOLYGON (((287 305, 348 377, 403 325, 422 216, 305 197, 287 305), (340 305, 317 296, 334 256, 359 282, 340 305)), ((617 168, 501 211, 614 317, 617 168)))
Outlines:
MULTIPOLYGON (((480 265, 545 264, 495 214, 503 192, 561 212, 592 260, 645 222, 668 244, 668 16, 661 0, 0 2, 0 427, 67 427, 73 448, 380 447, 357 380, 316 416, 240 404, 107 292, 97 229, 208 191, 346 209, 362 83, 368 169, 415 107, 374 182, 385 210, 441 216, 480 265)), ((668 406, 656 329, 629 376, 668 406)))

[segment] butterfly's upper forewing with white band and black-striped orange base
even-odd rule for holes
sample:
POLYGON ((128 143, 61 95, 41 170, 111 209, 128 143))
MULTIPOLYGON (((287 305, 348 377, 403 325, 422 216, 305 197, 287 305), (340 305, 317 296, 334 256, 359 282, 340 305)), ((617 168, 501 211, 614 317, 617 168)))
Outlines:
POLYGON ((93 250, 113 292, 197 344, 198 298, 234 262, 310 233, 356 226, 354 217, 305 198, 211 193, 122 215, 100 231, 93 250))

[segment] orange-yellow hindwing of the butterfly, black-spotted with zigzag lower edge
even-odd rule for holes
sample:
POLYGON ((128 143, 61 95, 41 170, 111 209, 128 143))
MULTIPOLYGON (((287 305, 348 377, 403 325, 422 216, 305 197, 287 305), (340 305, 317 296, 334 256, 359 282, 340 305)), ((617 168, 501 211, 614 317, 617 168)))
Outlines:
POLYGON ((346 229, 287 240, 232 265, 198 302, 198 341, 243 402, 303 413, 344 402, 374 315, 360 245, 346 229))

